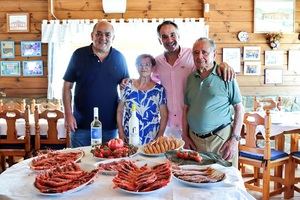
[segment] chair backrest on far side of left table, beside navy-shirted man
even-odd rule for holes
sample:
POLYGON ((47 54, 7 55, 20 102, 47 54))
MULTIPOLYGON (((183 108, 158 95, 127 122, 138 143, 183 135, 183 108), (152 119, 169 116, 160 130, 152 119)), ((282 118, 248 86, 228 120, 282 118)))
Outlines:
POLYGON ((45 101, 42 101, 40 103, 37 103, 35 99, 31 100, 31 113, 34 113, 35 106, 38 106, 39 112, 43 112, 45 110, 60 110, 62 111, 62 103, 60 99, 47 99, 45 101))

